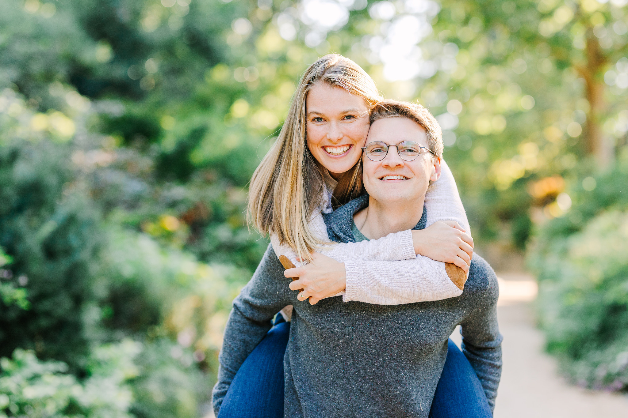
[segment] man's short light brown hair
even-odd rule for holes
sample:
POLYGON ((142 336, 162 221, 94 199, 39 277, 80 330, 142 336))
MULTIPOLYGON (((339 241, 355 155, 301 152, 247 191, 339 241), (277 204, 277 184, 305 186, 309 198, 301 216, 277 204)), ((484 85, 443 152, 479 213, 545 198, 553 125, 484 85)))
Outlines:
POLYGON ((436 118, 425 107, 398 100, 382 100, 377 103, 369 115, 371 123, 384 118, 407 118, 421 125, 428 134, 428 147, 436 157, 443 156, 443 131, 436 118))

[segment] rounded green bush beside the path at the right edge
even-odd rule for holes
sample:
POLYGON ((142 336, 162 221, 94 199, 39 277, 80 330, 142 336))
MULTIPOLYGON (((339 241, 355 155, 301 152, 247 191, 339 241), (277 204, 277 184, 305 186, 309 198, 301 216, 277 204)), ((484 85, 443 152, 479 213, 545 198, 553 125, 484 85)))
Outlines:
POLYGON ((596 389, 628 382, 627 162, 571 191, 571 211, 540 227, 529 254, 548 350, 596 389))

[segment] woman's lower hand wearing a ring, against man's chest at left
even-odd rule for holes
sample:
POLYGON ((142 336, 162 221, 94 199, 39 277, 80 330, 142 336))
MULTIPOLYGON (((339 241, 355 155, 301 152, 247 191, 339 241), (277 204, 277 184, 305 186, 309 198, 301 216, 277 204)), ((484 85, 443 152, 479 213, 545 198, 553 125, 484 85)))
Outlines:
MULTIPOLYGON (((301 261, 298 259, 298 261, 301 261)), ((312 254, 312 261, 305 266, 289 268, 283 272, 286 277, 298 277, 290 283, 291 290, 303 289, 300 293, 310 298, 310 305, 319 300, 337 295, 347 287, 345 263, 320 253, 312 254)), ((305 300, 300 297, 299 300, 305 300)))

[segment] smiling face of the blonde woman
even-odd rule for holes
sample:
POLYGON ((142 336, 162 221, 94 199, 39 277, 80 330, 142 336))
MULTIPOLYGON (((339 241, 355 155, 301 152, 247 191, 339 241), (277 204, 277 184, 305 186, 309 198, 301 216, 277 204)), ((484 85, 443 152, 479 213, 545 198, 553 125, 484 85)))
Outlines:
POLYGON ((369 133, 364 99, 341 87, 317 83, 305 100, 308 148, 332 177, 349 171, 369 133))

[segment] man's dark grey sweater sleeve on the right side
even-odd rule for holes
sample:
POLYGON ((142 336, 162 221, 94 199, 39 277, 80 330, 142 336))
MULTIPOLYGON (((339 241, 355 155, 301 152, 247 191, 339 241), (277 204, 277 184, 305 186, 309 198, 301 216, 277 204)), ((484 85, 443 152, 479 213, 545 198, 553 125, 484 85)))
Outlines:
MULTIPOLYGON (((497 277, 484 259, 474 254, 469 276, 483 283, 477 298, 473 298, 469 314, 463 319, 462 352, 480 379, 490 410, 495 409, 497 387, 502 374, 502 335, 497 325, 497 277)), ((468 288, 468 285, 467 285, 468 288)))

